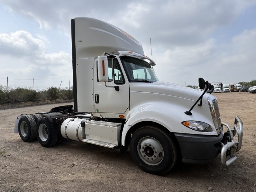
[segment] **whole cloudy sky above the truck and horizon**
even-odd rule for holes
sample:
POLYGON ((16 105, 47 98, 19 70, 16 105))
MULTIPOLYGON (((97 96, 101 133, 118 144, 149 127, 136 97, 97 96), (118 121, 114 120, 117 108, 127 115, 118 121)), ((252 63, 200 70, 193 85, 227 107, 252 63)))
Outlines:
POLYGON ((70 20, 92 17, 139 41, 160 81, 197 85, 256 79, 256 1, 0 0, 0 84, 68 87, 70 20))

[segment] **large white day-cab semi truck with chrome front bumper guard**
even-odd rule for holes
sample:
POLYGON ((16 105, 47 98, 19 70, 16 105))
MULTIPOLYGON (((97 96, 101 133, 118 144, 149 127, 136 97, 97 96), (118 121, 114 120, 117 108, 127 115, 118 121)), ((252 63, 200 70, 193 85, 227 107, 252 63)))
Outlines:
POLYGON ((243 123, 238 116, 234 129, 221 123, 217 98, 206 93, 212 88, 207 81, 199 78, 203 93, 159 81, 142 45, 103 21, 74 18, 71 37, 74 108, 21 114, 14 132, 24 142, 37 138, 50 147, 66 138, 121 152, 129 146, 134 162, 158 175, 177 160, 208 163, 219 153, 224 166, 236 160, 243 123))

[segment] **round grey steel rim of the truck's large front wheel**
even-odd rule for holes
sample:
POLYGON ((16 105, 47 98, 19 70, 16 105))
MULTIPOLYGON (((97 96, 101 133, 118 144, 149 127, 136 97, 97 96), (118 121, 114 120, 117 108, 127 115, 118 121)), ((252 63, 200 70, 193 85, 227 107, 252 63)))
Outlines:
POLYGON ((146 164, 158 165, 164 157, 163 147, 153 137, 143 137, 137 145, 138 154, 146 164))

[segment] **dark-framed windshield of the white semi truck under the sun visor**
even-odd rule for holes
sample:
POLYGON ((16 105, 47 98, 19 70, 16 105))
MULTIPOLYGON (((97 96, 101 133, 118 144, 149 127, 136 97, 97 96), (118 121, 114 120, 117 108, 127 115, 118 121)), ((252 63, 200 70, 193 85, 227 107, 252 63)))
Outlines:
POLYGON ((120 59, 130 82, 153 83, 159 81, 148 62, 129 56, 121 56, 120 59))

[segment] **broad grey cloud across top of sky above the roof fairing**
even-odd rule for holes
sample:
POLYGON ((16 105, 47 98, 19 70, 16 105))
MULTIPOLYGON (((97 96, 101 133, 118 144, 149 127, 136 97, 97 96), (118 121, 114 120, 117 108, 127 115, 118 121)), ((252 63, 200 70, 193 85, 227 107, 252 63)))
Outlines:
POLYGON ((254 1, 2 2, 13 14, 30 17, 45 30, 58 29, 70 34, 70 19, 93 17, 118 26, 142 44, 151 37, 168 47, 205 41, 217 27, 232 23, 254 1))

